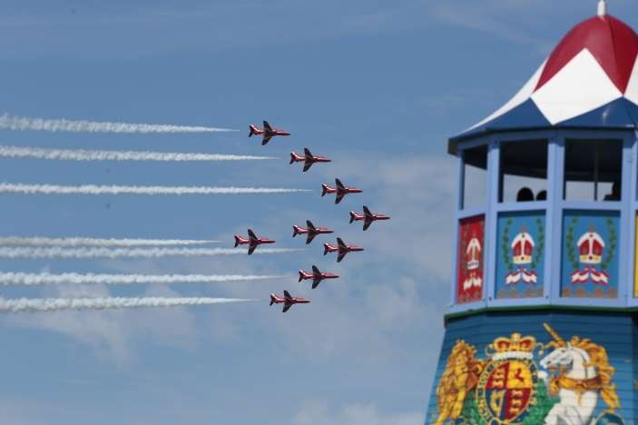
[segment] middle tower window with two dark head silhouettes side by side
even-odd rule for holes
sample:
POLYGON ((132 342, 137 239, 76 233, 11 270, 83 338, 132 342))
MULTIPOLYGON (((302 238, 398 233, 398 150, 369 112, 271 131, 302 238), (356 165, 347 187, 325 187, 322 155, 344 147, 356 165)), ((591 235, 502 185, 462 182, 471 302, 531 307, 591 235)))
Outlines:
POLYGON ((547 141, 500 144, 498 202, 522 203, 547 199, 547 141))

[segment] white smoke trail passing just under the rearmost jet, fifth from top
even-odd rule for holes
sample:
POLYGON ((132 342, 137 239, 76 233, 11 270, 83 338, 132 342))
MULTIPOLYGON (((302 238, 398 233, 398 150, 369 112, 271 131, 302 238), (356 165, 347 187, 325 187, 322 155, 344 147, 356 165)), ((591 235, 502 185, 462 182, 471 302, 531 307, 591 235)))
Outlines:
MULTIPOLYGON (((254 254, 272 254, 302 251, 295 248, 261 248, 254 254)), ((0 247, 0 258, 161 258, 161 257, 214 257, 246 254, 240 248, 5 248, 0 247)))

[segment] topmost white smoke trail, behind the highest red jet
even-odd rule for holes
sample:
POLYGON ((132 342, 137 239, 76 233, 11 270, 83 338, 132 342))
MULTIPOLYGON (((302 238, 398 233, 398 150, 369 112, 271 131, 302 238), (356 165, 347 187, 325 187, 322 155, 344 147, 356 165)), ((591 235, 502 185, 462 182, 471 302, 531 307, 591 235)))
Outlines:
POLYGON ((219 133, 236 131, 229 128, 191 125, 131 124, 65 119, 49 120, 9 114, 0 115, 0 129, 76 133, 219 133))

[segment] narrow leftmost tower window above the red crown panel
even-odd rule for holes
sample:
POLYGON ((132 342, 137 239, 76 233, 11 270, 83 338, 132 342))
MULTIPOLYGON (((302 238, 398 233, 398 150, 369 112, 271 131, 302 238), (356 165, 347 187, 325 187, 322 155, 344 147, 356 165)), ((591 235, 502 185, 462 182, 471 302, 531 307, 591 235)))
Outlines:
POLYGON ((487 145, 463 150, 463 208, 487 203, 487 145))

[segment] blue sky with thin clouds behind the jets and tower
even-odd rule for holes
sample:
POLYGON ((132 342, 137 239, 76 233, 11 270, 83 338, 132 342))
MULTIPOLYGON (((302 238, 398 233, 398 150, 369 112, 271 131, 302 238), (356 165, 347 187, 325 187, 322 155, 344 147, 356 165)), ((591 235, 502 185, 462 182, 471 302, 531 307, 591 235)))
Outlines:
MULTIPOLYGON (((3 235, 212 238, 252 227, 282 247, 291 225, 333 226, 367 251, 339 265, 318 240, 278 256, 156 261, 0 261, 15 272, 274 273, 232 284, 3 289, 14 296, 230 296, 252 305, 0 317, 3 423, 415 425, 449 302, 455 162, 447 137, 533 74, 594 0, 211 2, 11 1, 0 5, 0 112, 216 125, 227 134, 0 133, 52 148, 269 154, 259 163, 0 160, 20 183, 243 185, 312 193, 0 198, 3 235), (293 133, 262 147, 267 118, 293 133), (335 161, 288 164, 308 146, 335 161), (334 177, 360 186, 339 205, 334 177), (390 222, 348 225, 363 203, 390 222), (310 291, 313 263, 339 281, 310 291), (270 292, 312 299, 283 315, 270 292)), ((609 9, 636 26, 629 0, 609 9)))

